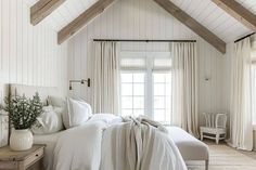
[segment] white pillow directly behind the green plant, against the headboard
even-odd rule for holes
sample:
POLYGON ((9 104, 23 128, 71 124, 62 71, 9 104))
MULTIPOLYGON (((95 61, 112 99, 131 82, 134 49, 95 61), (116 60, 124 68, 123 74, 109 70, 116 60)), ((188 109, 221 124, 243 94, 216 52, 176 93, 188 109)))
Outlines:
POLYGON ((46 106, 42 114, 37 118, 40 127, 33 126, 34 134, 50 134, 63 130, 60 107, 46 106))

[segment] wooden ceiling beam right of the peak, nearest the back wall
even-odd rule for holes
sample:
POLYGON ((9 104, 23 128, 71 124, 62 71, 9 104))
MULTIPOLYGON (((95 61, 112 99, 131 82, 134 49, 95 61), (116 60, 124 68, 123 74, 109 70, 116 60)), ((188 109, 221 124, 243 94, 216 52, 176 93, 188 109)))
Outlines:
POLYGON ((203 39, 205 39, 208 43, 214 45, 221 53, 226 53, 226 42, 218 38, 215 34, 208 30, 206 27, 201 25, 177 5, 175 5, 169 0, 154 0, 157 4, 159 4, 163 9, 165 9, 168 13, 170 13, 178 21, 183 23, 203 39))

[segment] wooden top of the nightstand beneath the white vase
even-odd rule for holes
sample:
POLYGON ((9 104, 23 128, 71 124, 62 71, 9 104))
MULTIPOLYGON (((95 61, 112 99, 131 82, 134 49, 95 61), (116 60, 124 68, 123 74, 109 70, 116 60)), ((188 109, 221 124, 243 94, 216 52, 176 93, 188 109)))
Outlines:
POLYGON ((23 161, 27 159, 31 154, 44 148, 46 145, 33 145, 28 151, 13 152, 10 146, 0 148, 0 161, 23 161))

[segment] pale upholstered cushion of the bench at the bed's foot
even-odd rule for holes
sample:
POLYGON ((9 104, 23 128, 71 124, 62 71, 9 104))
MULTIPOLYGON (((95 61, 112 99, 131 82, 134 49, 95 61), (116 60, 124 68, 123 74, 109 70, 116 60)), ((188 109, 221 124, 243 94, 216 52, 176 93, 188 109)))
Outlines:
POLYGON ((167 127, 184 160, 208 160, 208 146, 178 127, 167 127))

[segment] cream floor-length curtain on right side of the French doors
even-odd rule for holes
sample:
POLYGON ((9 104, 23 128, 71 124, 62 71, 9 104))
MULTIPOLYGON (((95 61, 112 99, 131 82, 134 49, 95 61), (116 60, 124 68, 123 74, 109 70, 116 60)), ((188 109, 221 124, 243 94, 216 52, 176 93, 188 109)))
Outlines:
POLYGON ((195 42, 172 42, 171 122, 199 136, 197 55, 195 42))

